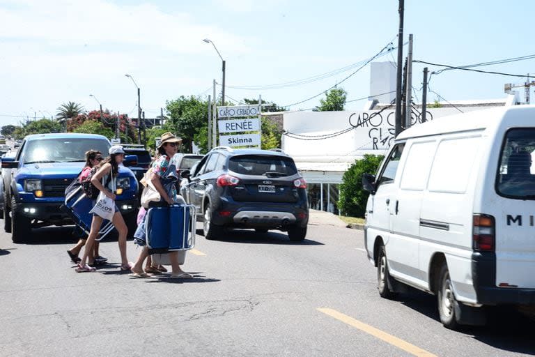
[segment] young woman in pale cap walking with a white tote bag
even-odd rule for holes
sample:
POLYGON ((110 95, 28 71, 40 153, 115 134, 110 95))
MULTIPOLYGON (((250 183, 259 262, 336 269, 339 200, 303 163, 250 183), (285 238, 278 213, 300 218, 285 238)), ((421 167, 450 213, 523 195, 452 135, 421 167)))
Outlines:
MULTIPOLYGON (((109 182, 109 184, 107 184, 107 187, 104 187, 104 185, 102 185, 102 178, 104 178, 104 182, 106 183, 108 181, 111 181, 108 180, 109 175, 112 176, 113 180, 116 180, 116 177, 118 176, 119 172, 118 165, 123 162, 125 158, 125 151, 123 151, 123 146, 114 145, 109 148, 108 152, 109 156, 106 158, 106 160, 102 161, 98 172, 93 174, 93 176, 91 177, 91 183, 106 197, 109 197, 115 201, 115 192, 112 192, 109 187, 116 187, 116 185, 114 184, 114 182, 109 182)), ((87 237, 86 248, 84 250, 82 260, 76 268, 77 273, 93 272, 96 270, 94 267, 87 265, 87 259, 89 256, 89 252, 91 252, 91 250, 93 249, 95 238, 97 238, 98 231, 100 230, 100 226, 102 225, 102 220, 102 217, 93 213, 93 220, 91 221, 91 231, 89 231, 89 236, 87 237)), ((132 268, 133 264, 128 261, 126 255, 126 236, 128 233, 128 228, 126 227, 123 215, 121 215, 121 212, 119 211, 117 206, 115 206, 115 213, 111 222, 114 224, 115 229, 117 229, 119 234, 118 245, 119 252, 121 252, 121 271, 130 271, 130 268, 132 268)))

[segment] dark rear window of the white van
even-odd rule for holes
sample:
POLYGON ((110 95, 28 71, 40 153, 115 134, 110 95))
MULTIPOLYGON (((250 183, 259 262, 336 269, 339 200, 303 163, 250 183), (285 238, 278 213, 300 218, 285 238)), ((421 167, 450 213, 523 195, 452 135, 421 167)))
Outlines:
POLYGON ((496 190, 499 195, 516 199, 535 199, 535 129, 518 128, 506 133, 496 190))

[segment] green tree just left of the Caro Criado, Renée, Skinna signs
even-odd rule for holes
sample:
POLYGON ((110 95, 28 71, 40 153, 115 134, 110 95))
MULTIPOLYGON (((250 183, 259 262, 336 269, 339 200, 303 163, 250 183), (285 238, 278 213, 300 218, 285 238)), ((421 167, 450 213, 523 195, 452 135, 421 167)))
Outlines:
MULTIPOLYGON (((192 142, 203 127, 208 127, 208 101, 199 96, 180 96, 166 102, 170 119, 168 130, 182 138, 185 152, 192 152, 192 142)), ((167 124, 166 123, 166 124, 167 124)))

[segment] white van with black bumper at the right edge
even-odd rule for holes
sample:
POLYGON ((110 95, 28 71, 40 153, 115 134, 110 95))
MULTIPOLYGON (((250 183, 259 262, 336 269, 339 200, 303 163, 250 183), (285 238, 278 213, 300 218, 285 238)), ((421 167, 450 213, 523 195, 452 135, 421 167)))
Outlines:
POLYGON ((448 328, 484 324, 483 305, 535 305, 534 155, 535 105, 398 135, 377 177, 362 177, 380 295, 405 284, 436 294, 448 328))

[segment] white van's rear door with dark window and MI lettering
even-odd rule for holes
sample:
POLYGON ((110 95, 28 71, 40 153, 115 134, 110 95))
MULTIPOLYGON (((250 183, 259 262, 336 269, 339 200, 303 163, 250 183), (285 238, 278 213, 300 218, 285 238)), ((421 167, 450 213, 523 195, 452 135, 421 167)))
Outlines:
POLYGON ((499 156, 493 204, 497 287, 535 288, 535 128, 512 128, 499 156))

